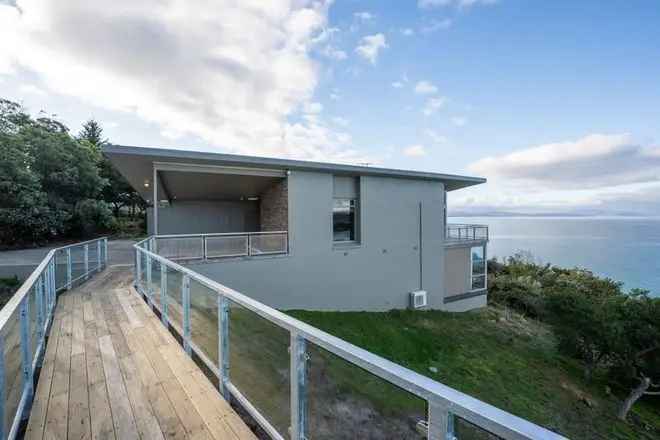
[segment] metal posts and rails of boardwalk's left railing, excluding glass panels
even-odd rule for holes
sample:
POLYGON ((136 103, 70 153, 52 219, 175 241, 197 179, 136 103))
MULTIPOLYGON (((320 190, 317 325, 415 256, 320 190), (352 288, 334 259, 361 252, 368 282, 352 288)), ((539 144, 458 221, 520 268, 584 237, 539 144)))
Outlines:
MULTIPOLYGON (((18 288, 9 302, 0 310, 0 439, 14 439, 18 435, 19 427, 32 404, 34 394, 34 372, 40 366, 46 346, 46 337, 50 329, 57 303, 57 291, 61 289, 70 289, 73 282, 79 279, 87 279, 95 271, 100 271, 107 265, 107 238, 101 237, 94 240, 88 240, 81 243, 74 243, 66 246, 57 247, 48 251, 30 276, 18 288), (97 265, 90 267, 89 249, 90 244, 96 243, 97 265), (84 252, 83 268, 84 272, 76 279, 72 279, 71 250, 79 247, 84 252), (57 255, 62 251, 66 252, 66 282, 58 287, 57 274, 57 255), (31 297, 34 295, 34 305, 36 323, 34 324, 34 333, 31 333, 31 297), (6 390, 16 385, 7 381, 6 371, 6 352, 5 339, 9 336, 10 322, 12 318, 18 321, 20 328, 20 375, 22 377, 22 390, 20 399, 17 403, 16 413, 13 417, 6 418, 5 410, 7 406, 6 390), (4 426, 5 420, 11 421, 11 426, 4 426)), ((15 380, 12 377, 11 380, 15 380)))

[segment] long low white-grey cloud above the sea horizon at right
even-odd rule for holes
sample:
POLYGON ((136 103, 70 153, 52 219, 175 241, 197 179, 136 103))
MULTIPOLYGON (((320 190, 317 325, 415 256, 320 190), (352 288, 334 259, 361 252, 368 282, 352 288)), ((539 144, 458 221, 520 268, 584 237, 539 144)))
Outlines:
POLYGON ((486 157, 471 164, 469 170, 529 182, 537 188, 604 188, 660 182, 660 148, 643 146, 629 134, 591 134, 486 157))

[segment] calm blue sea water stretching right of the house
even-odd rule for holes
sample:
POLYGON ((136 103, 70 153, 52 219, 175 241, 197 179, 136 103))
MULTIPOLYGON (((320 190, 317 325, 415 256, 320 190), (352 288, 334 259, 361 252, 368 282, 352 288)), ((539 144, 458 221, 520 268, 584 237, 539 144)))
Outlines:
POLYGON ((541 263, 583 267, 660 296, 660 218, 450 217, 489 226, 488 256, 529 251, 541 263))

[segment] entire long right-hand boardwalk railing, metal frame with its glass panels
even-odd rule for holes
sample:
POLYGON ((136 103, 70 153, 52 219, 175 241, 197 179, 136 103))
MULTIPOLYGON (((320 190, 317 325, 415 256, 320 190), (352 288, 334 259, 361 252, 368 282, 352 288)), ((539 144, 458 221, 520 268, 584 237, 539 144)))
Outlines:
MULTIPOLYGON (((422 408, 420 422, 411 427, 407 417, 396 426, 405 434, 389 426, 380 431, 385 437, 460 439, 465 426, 471 426, 490 436, 478 438, 564 438, 158 255, 156 242, 152 237, 135 245, 136 289, 160 312, 163 325, 179 334, 186 352, 218 378, 222 395, 236 399, 274 439, 349 437, 334 430, 346 429, 352 414, 363 412, 351 411, 350 405, 366 405, 368 395, 380 399, 381 406, 421 405, 415 406, 422 408), (349 396, 345 385, 329 391, 344 379, 353 387, 375 388, 357 397, 349 396), (337 423, 329 426, 323 411, 337 423)), ((378 437, 369 429, 395 417, 391 410, 372 411, 381 417, 372 414, 358 428, 367 431, 353 431, 350 438, 378 437)))

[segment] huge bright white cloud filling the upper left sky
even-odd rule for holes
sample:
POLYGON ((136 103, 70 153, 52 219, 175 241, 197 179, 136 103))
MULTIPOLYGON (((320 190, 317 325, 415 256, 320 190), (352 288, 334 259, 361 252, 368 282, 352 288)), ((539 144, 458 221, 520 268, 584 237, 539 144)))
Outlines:
MULTIPOLYGON (((0 74, 34 73, 50 92, 223 151, 346 158, 355 154, 350 136, 298 118, 317 87, 310 52, 327 32, 329 3, 23 0, 21 12, 0 4, 0 74)), ((384 37, 375 43, 374 60, 384 37)))

